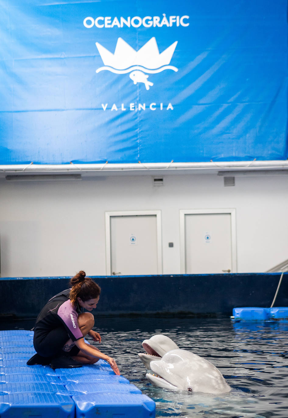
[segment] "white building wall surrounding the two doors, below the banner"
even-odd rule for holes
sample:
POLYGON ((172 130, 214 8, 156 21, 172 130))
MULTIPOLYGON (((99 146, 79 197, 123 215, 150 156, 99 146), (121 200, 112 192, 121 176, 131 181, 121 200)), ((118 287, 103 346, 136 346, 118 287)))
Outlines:
POLYGON ((160 209, 163 274, 180 273, 179 210, 236 209, 237 271, 264 272, 288 258, 288 176, 84 177, 0 180, 1 277, 106 275, 105 212, 160 209), (168 248, 168 242, 174 247, 168 248))

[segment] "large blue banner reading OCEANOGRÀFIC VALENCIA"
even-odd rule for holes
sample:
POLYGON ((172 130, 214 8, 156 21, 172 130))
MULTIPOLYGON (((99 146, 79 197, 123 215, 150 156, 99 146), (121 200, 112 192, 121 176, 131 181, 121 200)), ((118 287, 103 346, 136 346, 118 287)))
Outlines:
POLYGON ((288 157, 286 0, 0 10, 0 164, 288 157))

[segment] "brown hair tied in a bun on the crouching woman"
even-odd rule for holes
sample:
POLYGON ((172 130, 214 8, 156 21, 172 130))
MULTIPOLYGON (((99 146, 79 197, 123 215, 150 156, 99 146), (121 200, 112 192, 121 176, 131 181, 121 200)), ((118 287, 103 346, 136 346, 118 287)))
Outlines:
POLYGON ((70 300, 72 305, 76 305, 77 298, 81 298, 83 302, 89 299, 98 298, 101 288, 95 283, 92 278, 86 277, 86 273, 81 270, 74 277, 70 279, 70 300))

